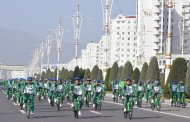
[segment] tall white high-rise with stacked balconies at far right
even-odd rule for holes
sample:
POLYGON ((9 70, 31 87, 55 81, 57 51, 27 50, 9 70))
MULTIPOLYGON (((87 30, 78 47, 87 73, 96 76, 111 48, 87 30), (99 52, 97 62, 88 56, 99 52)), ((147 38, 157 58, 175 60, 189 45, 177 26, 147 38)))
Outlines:
MULTIPOLYGON (((144 62, 149 62, 152 56, 165 55, 169 26, 167 4, 166 0, 137 1, 137 65, 139 67, 144 62)), ((182 49, 184 55, 190 53, 189 11, 190 0, 173 0, 172 55, 180 56, 182 49)))

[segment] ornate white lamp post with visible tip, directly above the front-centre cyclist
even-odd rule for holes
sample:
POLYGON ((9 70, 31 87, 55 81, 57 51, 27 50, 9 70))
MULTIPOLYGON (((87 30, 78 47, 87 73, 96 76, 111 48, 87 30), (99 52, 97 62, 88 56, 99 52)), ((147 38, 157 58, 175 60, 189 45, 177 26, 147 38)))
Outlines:
POLYGON ((72 16, 73 20, 73 27, 74 27, 74 41, 75 41, 75 60, 76 60, 76 66, 77 59, 78 59, 78 45, 80 43, 80 30, 83 22, 83 17, 80 15, 80 9, 79 4, 77 5, 77 11, 72 16))

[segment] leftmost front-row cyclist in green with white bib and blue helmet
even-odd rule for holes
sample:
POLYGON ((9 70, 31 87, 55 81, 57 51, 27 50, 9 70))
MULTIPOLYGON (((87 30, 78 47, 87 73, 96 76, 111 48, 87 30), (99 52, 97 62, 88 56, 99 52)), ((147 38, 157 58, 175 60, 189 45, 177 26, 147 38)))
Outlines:
MULTIPOLYGON (((36 94, 35 86, 33 84, 33 78, 27 78, 28 84, 24 87, 24 105, 27 105, 28 100, 30 100, 30 114, 34 114, 34 95, 36 94)), ((25 107, 24 106, 24 107, 25 107)))

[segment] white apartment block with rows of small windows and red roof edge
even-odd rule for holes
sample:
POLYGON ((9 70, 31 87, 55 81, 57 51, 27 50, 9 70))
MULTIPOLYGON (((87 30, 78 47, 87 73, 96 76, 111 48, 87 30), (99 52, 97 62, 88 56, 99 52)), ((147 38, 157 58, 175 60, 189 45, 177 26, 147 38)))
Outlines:
POLYGON ((115 61, 123 66, 130 61, 136 64, 136 17, 118 15, 111 20, 110 34, 110 66, 115 61))

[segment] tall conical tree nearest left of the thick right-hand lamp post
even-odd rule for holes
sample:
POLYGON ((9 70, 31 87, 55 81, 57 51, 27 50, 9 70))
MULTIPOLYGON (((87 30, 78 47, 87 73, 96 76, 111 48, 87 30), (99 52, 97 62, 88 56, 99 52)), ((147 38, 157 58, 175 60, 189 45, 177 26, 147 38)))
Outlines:
POLYGON ((157 58, 154 56, 150 60, 149 67, 147 69, 146 80, 155 81, 160 80, 160 71, 157 58))

